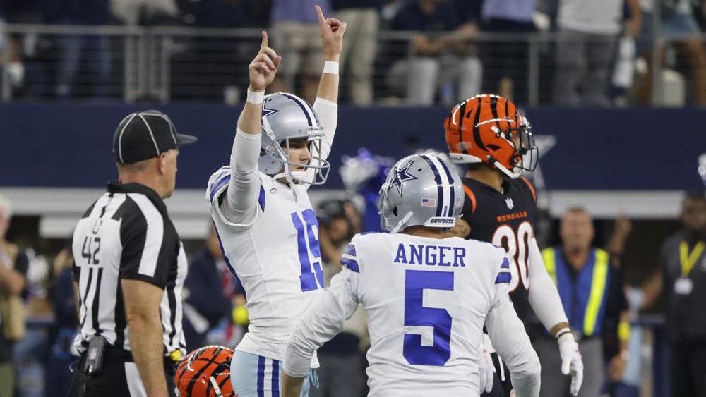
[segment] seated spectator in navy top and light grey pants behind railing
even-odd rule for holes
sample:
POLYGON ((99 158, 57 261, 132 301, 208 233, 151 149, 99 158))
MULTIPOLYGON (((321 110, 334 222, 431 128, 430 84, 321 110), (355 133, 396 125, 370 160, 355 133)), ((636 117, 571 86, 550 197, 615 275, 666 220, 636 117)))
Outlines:
POLYGON ((417 32, 412 37, 411 57, 397 61, 388 74, 388 85, 399 92, 406 90, 409 104, 431 105, 442 85, 445 102, 479 92, 481 63, 469 53, 468 45, 477 28, 464 23, 453 4, 445 0, 407 0, 391 28, 417 32), (453 81, 458 83, 455 93, 450 85, 453 81))

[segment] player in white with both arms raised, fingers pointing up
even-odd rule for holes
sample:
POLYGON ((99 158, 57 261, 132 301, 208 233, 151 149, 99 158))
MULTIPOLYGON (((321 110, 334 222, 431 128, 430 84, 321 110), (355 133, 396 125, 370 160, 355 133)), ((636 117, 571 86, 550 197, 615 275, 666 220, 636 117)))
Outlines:
MULTIPOLYGON (((235 348, 239 397, 280 396, 281 361, 294 325, 321 293, 318 224, 307 189, 325 183, 337 123, 338 60, 346 24, 316 6, 325 65, 316 101, 264 94, 281 59, 262 46, 249 66, 250 87, 229 166, 210 177, 206 198, 224 257, 241 281, 250 326, 235 348)), ((316 357, 307 367, 318 367, 316 357)), ((307 396, 308 384, 301 396, 307 396)))

